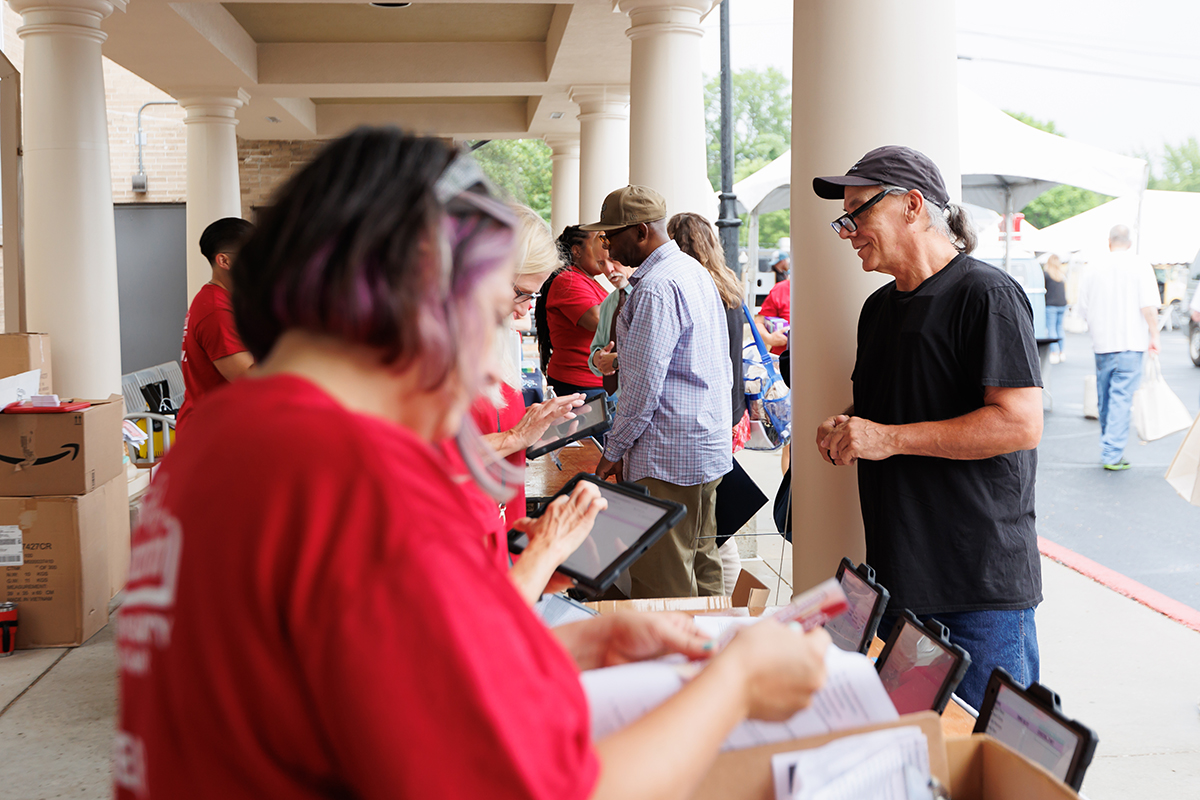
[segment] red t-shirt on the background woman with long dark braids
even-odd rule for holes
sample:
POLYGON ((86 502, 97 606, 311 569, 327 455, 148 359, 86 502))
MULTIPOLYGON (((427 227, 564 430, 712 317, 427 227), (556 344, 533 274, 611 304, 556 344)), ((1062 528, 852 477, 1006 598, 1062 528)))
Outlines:
POLYGON ((550 284, 546 321, 554 350, 546 367, 547 378, 589 389, 604 385, 588 368, 594 333, 578 323, 588 308, 599 306, 607 296, 604 287, 574 267, 560 272, 550 284))

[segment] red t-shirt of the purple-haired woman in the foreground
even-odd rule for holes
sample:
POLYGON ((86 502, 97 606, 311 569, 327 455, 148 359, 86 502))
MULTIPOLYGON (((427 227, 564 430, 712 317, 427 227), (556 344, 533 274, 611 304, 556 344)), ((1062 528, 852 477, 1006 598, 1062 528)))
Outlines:
POLYGON ((292 375, 191 425, 133 535, 119 800, 590 793, 575 664, 438 451, 292 375))

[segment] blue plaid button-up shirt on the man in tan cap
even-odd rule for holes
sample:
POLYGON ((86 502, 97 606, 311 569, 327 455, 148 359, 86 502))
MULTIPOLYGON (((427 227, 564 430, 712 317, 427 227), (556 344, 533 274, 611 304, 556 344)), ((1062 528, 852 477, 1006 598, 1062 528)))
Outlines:
POLYGON ((733 468, 733 371, 716 284, 674 241, 650 253, 630 283, 617 319, 620 404, 605 458, 624 458, 628 481, 715 481, 733 468))

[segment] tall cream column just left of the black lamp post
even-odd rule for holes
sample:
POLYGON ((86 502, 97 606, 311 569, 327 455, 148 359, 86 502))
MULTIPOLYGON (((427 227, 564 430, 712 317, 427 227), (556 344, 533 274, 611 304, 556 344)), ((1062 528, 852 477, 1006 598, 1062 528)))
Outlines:
POLYGON ((667 212, 716 218, 704 157, 700 19, 714 0, 619 0, 631 23, 629 180, 658 190, 667 212))

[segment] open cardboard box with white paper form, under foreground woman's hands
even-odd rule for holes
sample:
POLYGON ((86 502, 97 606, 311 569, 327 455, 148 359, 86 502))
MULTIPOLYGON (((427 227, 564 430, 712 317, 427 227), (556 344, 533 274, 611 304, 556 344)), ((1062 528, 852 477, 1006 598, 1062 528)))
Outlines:
MULTIPOLYGON (((925 734, 925 739, 929 740, 929 771, 948 786, 953 770, 949 769, 946 759, 946 740, 942 738, 941 718, 932 711, 922 711, 920 714, 906 714, 894 722, 721 753, 701 782, 695 800, 775 800, 775 787, 770 777, 770 757, 775 753, 811 750, 842 736, 904 726, 917 726, 925 734)), ((959 800, 958 793, 954 793, 954 800, 959 800)))

